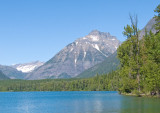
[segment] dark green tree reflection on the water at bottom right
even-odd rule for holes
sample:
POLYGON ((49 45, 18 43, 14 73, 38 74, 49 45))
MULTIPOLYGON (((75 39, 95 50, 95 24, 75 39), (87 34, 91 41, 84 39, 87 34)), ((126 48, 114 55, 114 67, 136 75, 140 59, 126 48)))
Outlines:
POLYGON ((121 113, 160 113, 160 99, 124 96, 121 113))

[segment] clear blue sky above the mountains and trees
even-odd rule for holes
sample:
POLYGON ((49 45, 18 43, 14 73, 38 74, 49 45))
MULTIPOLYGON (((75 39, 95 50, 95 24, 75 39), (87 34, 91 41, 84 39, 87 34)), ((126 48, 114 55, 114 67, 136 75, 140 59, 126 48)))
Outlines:
POLYGON ((0 64, 48 61, 92 30, 121 42, 129 14, 142 29, 160 0, 0 0, 0 64))

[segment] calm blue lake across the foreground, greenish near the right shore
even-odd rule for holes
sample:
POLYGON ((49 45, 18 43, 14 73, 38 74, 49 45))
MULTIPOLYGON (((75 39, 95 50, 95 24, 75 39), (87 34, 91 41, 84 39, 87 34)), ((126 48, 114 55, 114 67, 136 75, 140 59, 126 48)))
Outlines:
POLYGON ((116 91, 0 92, 0 113, 160 113, 160 99, 116 91))

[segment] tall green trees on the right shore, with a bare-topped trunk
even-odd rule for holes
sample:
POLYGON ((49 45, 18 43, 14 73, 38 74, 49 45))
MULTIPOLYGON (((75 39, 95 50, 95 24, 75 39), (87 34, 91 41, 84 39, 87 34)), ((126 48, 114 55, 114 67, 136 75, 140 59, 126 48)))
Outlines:
POLYGON ((120 59, 119 91, 132 94, 160 94, 160 5, 154 10, 156 34, 146 31, 139 40, 137 17, 130 16, 131 25, 124 27, 127 40, 118 48, 120 59), (149 33, 148 33, 149 32, 149 33))

